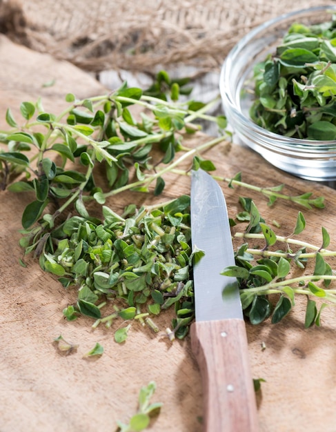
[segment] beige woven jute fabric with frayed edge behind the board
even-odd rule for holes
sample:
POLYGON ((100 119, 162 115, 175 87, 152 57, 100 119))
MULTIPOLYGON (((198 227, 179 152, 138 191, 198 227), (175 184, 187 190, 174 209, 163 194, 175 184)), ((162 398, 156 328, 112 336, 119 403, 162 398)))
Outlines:
POLYGON ((251 28, 322 0, 0 0, 0 30, 85 70, 213 70, 251 28))

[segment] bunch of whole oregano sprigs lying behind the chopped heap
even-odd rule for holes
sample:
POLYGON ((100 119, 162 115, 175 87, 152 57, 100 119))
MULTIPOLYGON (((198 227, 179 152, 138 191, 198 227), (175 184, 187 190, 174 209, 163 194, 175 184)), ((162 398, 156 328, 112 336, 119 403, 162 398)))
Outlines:
POLYGON ((23 124, 14 119, 10 110, 6 113, 12 129, 0 135, 8 146, 8 151, 0 153, 1 185, 15 192, 35 194, 34 201, 23 212, 22 224, 26 229, 37 222, 48 204, 58 208, 45 220, 45 228, 50 222, 54 224, 55 218, 70 205, 88 217, 88 200, 103 204, 106 197, 128 189, 148 192, 152 182, 156 184, 155 195, 159 195, 170 164, 173 168, 225 141, 221 135, 199 148, 188 149, 184 157, 175 160, 175 153, 184 150, 182 134, 199 129, 197 124, 191 124, 197 117, 215 121, 219 128, 226 127, 224 117, 206 115, 207 106, 194 101, 155 99, 126 84, 109 95, 79 101, 69 94, 66 100, 70 105, 60 115, 45 112, 40 100, 37 104, 23 102, 20 107, 23 124), (146 109, 139 115, 140 120, 132 114, 132 106, 146 109), (198 114, 192 107, 197 108, 198 114), (57 155, 61 157, 59 164, 55 163, 57 155), (105 191, 95 178, 94 168, 101 162, 108 184, 105 191), (81 169, 72 168, 74 163, 81 169), (158 164, 166 166, 160 174, 158 164), (18 175, 21 175, 19 181, 13 181, 18 175))

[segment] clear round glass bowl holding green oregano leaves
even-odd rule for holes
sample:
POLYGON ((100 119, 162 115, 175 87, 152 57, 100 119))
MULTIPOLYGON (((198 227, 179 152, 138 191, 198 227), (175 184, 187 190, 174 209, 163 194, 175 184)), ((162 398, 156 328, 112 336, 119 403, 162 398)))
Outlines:
POLYGON ((224 114, 237 141, 286 173, 315 181, 336 180, 336 141, 284 137, 257 126, 248 114, 253 99, 246 90, 253 77, 253 66, 275 52, 292 23, 330 21, 330 11, 335 13, 336 6, 290 12, 256 27, 229 52, 219 82, 224 114))

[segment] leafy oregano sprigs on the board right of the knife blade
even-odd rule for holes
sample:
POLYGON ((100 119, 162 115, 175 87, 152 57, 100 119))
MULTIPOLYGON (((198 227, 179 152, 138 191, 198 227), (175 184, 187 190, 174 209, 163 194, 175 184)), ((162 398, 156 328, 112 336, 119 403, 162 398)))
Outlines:
MULTIPOLYGON (((241 200, 246 205, 246 200, 241 200)), ((237 277, 241 293, 244 314, 253 324, 259 324, 271 317, 273 324, 281 321, 295 305, 295 295, 306 295, 307 307, 305 326, 314 323, 319 326, 322 310, 328 304, 336 304, 336 289, 330 284, 336 274, 326 257, 336 256, 336 251, 327 249, 330 235, 322 227, 320 246, 292 238, 302 233, 306 227, 304 215, 299 212, 292 235, 276 235, 270 226, 264 223, 255 204, 248 200, 245 210, 249 212, 248 226, 244 233, 235 233, 236 238, 253 239, 264 242, 263 247, 248 247, 241 244, 235 252, 235 266, 224 268, 222 274, 237 277), (271 250, 276 244, 283 243, 286 248, 271 250), (293 247, 297 246, 296 250, 293 247), (308 260, 313 260, 313 273, 305 273, 308 260), (293 267, 302 270, 302 274, 293 275, 293 267), (318 282, 320 282, 318 284, 318 282), (277 301, 270 299, 277 295, 277 301), (323 300, 319 310, 317 301, 323 300)))

